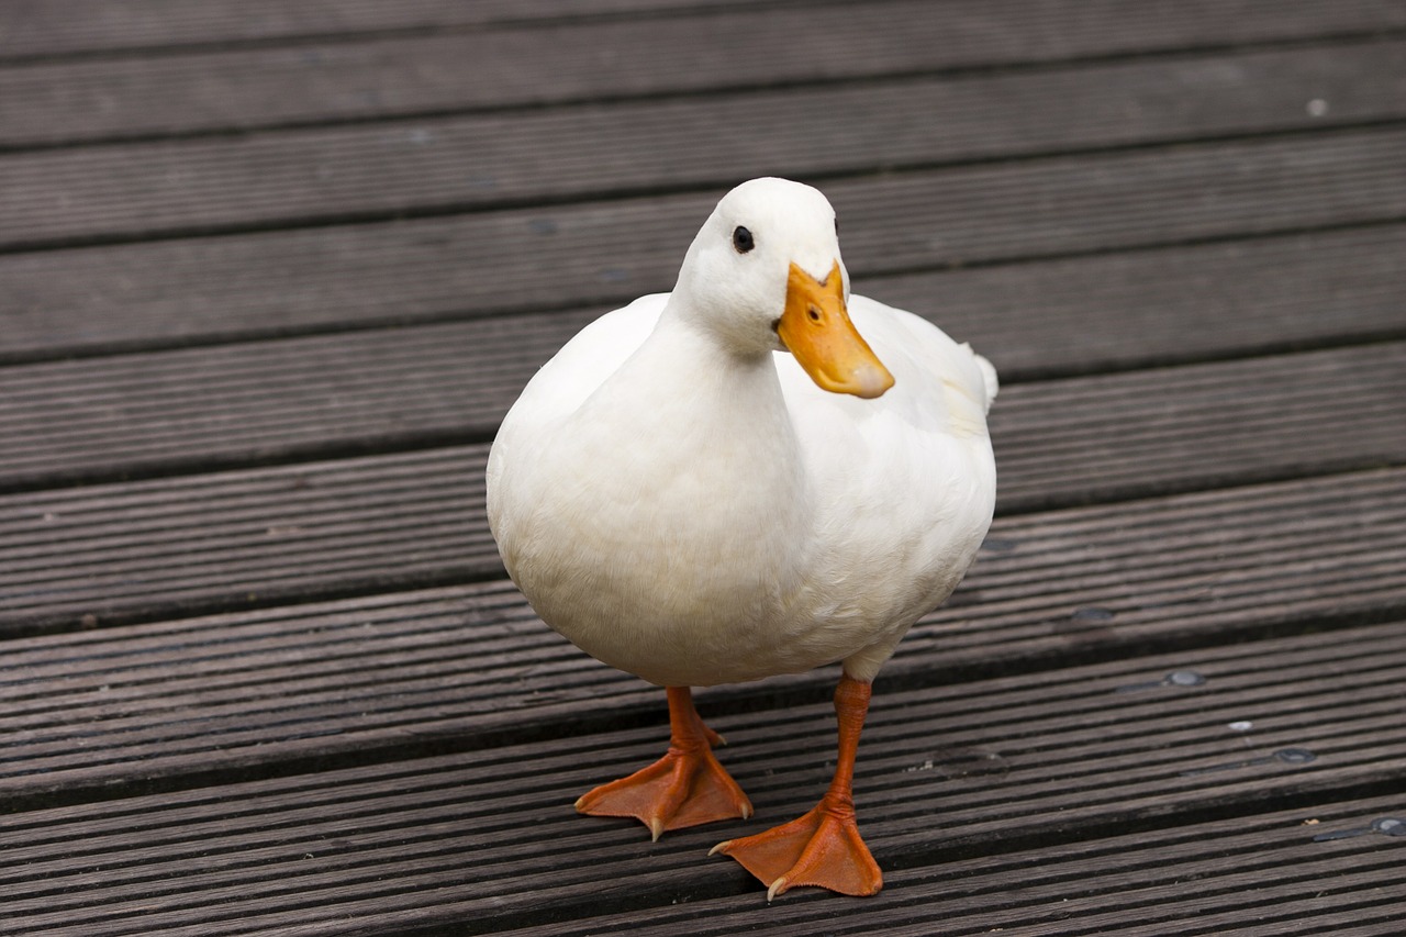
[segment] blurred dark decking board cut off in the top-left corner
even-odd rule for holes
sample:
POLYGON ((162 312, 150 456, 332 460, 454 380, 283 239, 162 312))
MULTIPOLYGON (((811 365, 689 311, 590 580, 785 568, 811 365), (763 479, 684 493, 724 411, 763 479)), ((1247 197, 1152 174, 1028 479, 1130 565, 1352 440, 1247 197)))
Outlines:
MULTIPOLYGON (((728 0, 42 0, 0 7, 0 58, 482 27, 503 21, 707 8, 728 0)), ((763 0, 765 1, 765 0, 763 0)), ((1369 11, 1360 11, 1369 15, 1369 11)))

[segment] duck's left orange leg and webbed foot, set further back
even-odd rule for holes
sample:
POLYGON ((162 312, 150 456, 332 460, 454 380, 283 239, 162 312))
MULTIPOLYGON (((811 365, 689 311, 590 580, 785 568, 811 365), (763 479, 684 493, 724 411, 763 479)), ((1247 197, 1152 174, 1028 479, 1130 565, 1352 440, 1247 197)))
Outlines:
POLYGON ((633 816, 654 839, 665 830, 752 816, 752 802, 713 757, 723 736, 703 725, 688 687, 669 687, 669 750, 648 768, 576 801, 592 816, 633 816))

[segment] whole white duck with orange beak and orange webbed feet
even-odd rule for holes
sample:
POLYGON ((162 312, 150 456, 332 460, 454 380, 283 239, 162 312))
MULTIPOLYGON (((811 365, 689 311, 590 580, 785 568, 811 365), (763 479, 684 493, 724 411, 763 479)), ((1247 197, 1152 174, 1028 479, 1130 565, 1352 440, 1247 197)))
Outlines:
POLYGON ((824 798, 713 851, 768 899, 877 892, 851 786, 870 681, 986 535, 994 395, 970 348, 849 295, 834 210, 782 179, 718 203, 672 293, 568 342, 494 442, 489 523, 543 620, 666 687, 671 715, 668 754, 576 809, 638 817, 655 839, 751 816, 689 688, 844 661, 824 798))

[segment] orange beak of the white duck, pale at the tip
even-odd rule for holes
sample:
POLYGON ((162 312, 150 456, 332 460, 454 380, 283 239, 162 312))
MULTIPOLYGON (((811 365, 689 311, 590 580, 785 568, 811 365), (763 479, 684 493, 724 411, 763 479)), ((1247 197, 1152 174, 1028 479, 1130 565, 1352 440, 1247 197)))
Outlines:
POLYGON ((824 280, 790 264, 776 333, 821 390, 873 398, 893 387, 893 374, 849 321, 838 260, 824 280))

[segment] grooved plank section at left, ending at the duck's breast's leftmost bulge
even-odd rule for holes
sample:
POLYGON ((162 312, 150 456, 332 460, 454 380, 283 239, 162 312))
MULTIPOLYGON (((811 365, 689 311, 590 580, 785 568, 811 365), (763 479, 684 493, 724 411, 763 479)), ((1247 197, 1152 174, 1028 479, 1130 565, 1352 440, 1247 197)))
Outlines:
POLYGON ((498 568, 485 452, 17 495, 4 505, 17 536, 0 613, 11 625, 79 623, 482 575, 498 568))

